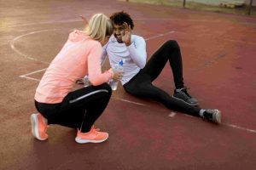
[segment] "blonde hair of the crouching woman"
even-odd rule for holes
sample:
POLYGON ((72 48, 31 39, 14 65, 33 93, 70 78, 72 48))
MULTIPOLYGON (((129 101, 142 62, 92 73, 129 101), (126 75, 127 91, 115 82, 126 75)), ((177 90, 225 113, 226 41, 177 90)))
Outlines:
POLYGON ((102 42, 113 33, 112 21, 105 14, 94 14, 85 27, 84 33, 91 38, 102 42))

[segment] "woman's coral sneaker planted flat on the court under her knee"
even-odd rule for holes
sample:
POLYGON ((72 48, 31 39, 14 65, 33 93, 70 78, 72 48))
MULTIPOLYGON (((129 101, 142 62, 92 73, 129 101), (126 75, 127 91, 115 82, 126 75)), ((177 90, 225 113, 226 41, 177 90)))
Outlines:
POLYGON ((91 127, 90 132, 88 133, 81 133, 78 130, 76 142, 79 144, 85 143, 102 143, 108 139, 108 133, 99 132, 100 129, 91 127))

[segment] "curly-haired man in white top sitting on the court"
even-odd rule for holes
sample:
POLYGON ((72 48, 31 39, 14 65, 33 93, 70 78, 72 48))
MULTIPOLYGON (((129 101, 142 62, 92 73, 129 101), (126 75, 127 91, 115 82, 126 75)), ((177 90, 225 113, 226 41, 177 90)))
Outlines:
POLYGON ((196 106, 197 99, 192 98, 184 87, 182 56, 176 41, 165 42, 146 63, 146 42, 143 37, 131 34, 134 24, 130 15, 121 11, 112 14, 110 19, 113 21, 114 31, 113 36, 103 47, 102 61, 107 54, 112 67, 121 59, 125 60, 124 75, 120 82, 127 93, 154 99, 174 111, 200 116, 211 122, 221 122, 220 111, 199 108, 196 106), (152 84, 167 61, 171 65, 176 87, 173 96, 152 84))

